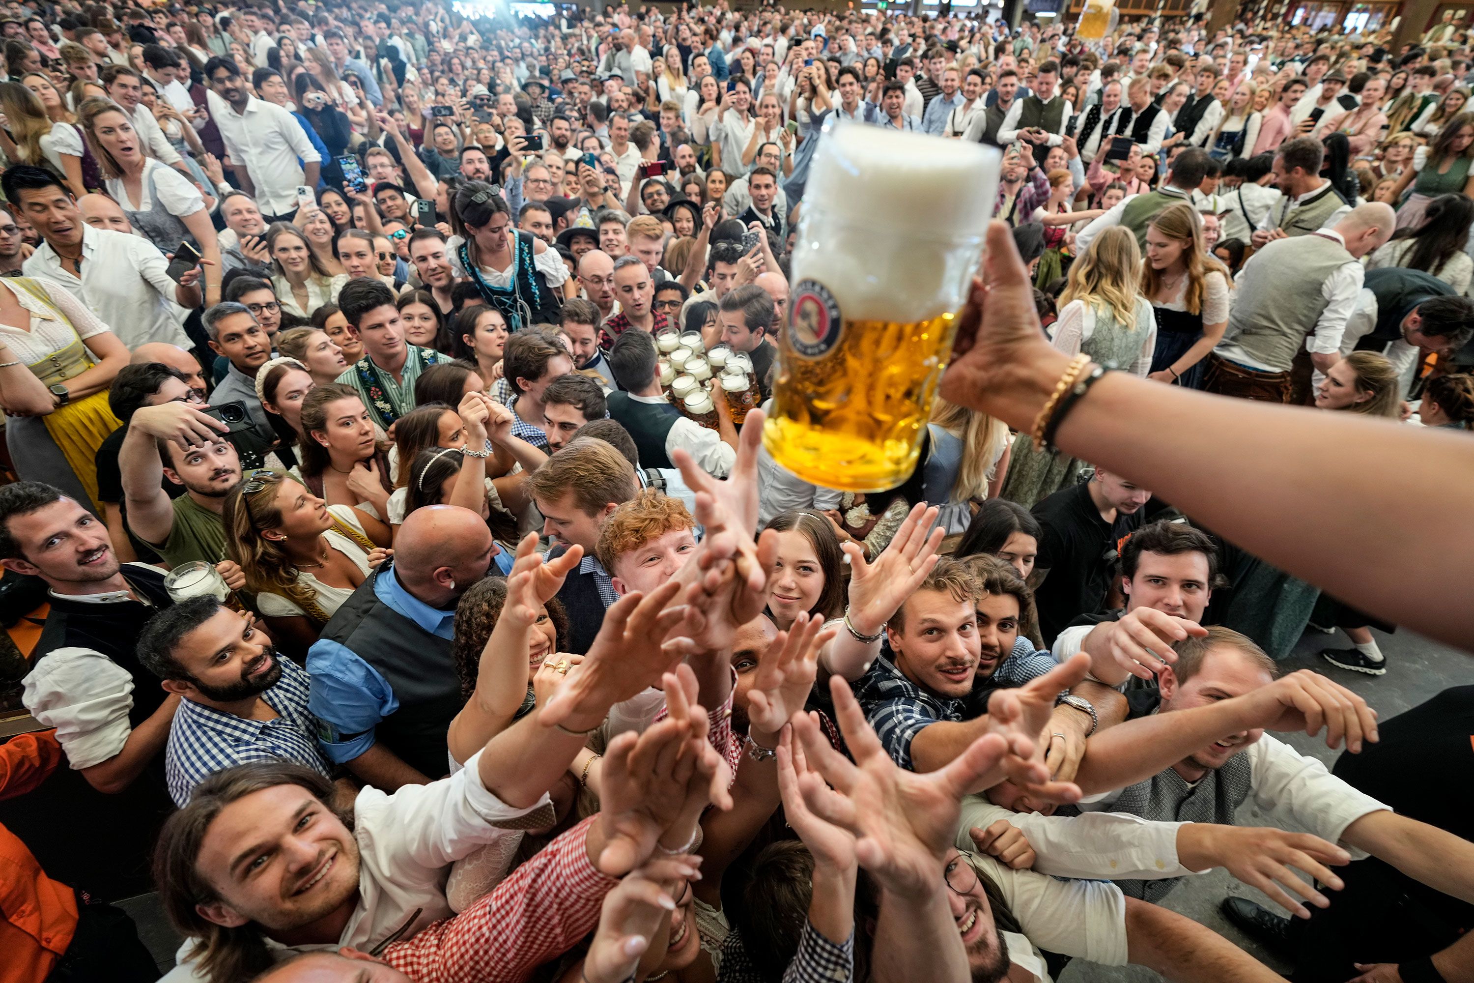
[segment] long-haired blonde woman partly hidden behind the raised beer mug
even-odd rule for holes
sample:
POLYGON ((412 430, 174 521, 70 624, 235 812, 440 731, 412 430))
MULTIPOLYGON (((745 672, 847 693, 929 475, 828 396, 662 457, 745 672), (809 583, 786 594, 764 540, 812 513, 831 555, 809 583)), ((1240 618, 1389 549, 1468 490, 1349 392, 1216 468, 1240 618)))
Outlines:
POLYGON ((986 413, 937 396, 932 405, 932 452, 923 464, 921 494, 936 506, 946 535, 964 532, 973 503, 991 498, 1008 473, 1008 427, 986 413))

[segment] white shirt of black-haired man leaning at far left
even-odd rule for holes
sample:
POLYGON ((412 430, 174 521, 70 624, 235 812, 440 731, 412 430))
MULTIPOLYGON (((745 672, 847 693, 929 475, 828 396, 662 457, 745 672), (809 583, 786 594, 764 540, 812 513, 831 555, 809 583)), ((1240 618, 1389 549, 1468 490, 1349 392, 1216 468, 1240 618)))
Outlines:
POLYGON ((84 224, 81 279, 62 267, 62 258, 44 242, 21 268, 28 277, 56 280, 80 296, 130 349, 144 342, 190 346, 175 318, 178 284, 170 279, 170 261, 142 236, 84 224))

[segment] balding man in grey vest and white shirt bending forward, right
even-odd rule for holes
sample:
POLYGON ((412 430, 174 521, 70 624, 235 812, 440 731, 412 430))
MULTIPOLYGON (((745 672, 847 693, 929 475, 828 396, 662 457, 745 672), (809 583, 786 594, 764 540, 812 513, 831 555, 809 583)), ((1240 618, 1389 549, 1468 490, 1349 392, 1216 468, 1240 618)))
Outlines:
POLYGON ((1394 221, 1389 205, 1368 202, 1331 227, 1294 237, 1281 233, 1262 246, 1238 274, 1228 329, 1207 358, 1203 388, 1244 399, 1307 402, 1312 386, 1341 358, 1346 321, 1365 277, 1362 256, 1391 237, 1394 221))

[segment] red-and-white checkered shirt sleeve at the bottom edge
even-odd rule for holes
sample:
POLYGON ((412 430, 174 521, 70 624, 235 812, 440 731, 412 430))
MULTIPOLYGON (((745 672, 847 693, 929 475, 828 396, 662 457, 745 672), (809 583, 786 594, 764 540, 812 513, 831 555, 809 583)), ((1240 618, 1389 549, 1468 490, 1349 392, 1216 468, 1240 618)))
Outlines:
POLYGON ((520 983, 598 924, 619 883, 588 862, 593 815, 511 871, 495 890, 383 952, 416 983, 520 983))

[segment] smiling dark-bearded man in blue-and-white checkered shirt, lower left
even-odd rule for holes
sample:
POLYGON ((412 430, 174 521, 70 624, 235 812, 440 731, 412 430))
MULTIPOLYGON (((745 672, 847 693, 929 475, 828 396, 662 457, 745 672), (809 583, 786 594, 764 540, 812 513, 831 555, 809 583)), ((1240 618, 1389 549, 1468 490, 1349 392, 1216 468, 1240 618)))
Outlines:
POLYGON ((183 699, 164 758, 180 808, 211 774, 248 762, 292 760, 329 777, 308 675, 277 657, 254 615, 193 597, 149 619, 139 662, 183 699))

